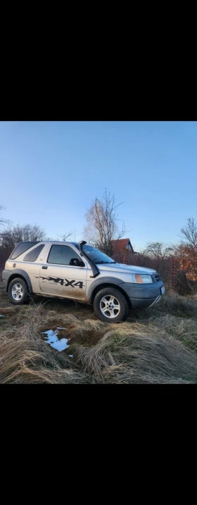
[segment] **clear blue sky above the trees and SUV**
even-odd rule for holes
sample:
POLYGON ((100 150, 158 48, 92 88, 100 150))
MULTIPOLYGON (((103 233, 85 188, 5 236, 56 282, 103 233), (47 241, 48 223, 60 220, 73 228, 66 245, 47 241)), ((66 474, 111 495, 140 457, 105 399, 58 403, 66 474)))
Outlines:
POLYGON ((195 122, 0 122, 4 217, 84 237, 86 209, 115 194, 136 251, 178 242, 197 218, 195 122))

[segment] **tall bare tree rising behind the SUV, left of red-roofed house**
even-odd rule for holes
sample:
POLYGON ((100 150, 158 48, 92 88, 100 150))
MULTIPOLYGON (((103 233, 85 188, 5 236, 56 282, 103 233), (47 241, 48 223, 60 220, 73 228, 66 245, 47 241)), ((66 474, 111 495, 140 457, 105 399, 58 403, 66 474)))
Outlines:
POLYGON ((89 242, 106 254, 112 254, 111 241, 120 239, 126 233, 125 224, 122 227, 117 225, 118 215, 117 207, 122 204, 115 204, 115 196, 111 196, 110 192, 105 191, 103 198, 99 200, 97 197, 91 208, 87 211, 87 226, 84 228, 85 235, 89 242))

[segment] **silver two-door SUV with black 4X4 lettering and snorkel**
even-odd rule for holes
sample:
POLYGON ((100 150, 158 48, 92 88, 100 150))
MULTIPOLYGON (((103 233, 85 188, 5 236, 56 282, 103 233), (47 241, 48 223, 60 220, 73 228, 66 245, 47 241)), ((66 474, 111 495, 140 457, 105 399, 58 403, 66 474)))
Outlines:
POLYGON ((13 304, 31 294, 84 301, 106 323, 125 320, 129 308, 153 306, 165 292, 155 270, 116 263, 84 241, 20 242, 2 276, 13 304))

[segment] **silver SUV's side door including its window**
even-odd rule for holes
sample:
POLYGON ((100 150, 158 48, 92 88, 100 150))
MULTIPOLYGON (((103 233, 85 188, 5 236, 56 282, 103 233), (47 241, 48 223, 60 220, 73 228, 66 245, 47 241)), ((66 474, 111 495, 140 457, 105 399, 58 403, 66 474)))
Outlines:
POLYGON ((85 299, 87 265, 72 246, 52 244, 45 261, 39 270, 41 292, 85 299))

